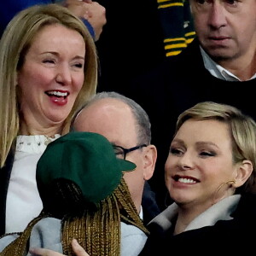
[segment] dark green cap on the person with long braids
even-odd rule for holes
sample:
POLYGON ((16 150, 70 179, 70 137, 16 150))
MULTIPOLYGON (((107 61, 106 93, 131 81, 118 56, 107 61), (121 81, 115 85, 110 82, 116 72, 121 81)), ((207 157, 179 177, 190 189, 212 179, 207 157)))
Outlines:
POLYGON ((55 181, 61 179, 75 183, 84 200, 96 204, 113 193, 123 172, 135 168, 131 161, 116 157, 106 137, 93 132, 70 132, 49 143, 38 160, 39 195, 47 204, 49 188, 52 193, 55 181))

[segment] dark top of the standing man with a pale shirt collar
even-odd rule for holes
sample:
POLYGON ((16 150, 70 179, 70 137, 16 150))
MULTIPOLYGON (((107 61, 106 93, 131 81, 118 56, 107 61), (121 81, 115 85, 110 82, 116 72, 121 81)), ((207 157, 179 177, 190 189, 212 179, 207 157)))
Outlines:
POLYGON ((212 101, 233 105, 256 119, 255 85, 256 79, 228 82, 213 77, 204 67, 195 38, 181 54, 166 59, 159 67, 134 81, 128 90, 121 91, 138 102, 151 121, 152 143, 158 149, 158 159, 149 183, 160 207, 166 207, 164 165, 177 116, 198 102, 212 101))

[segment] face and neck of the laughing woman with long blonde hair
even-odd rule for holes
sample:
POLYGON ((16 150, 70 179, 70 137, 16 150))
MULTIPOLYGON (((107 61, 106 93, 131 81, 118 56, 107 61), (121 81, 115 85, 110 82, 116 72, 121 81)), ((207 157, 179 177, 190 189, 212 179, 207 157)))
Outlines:
POLYGON ((49 136, 61 132, 62 121, 73 108, 84 83, 84 56, 84 39, 79 32, 61 24, 44 26, 38 32, 18 71, 24 119, 21 134, 36 134, 39 119, 32 116, 41 116, 43 127, 58 123, 49 136))

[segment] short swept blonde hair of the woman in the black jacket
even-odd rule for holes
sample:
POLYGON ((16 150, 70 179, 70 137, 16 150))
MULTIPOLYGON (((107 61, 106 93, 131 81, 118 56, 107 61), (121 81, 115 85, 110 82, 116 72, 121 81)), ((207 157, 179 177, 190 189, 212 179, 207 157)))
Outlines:
POLYGON ((235 107, 216 102, 200 102, 185 110, 177 119, 176 131, 188 119, 206 120, 216 119, 227 124, 230 128, 232 154, 234 163, 249 160, 253 165, 252 175, 236 193, 256 192, 256 123, 235 107))

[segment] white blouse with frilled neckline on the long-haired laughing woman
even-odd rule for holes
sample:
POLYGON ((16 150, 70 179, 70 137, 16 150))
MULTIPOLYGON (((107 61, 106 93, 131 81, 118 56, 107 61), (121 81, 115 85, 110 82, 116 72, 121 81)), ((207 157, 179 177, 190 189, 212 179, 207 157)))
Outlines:
POLYGON ((43 204, 38 194, 36 167, 47 144, 54 138, 44 135, 18 136, 15 161, 6 201, 6 233, 20 232, 38 216, 43 204))

